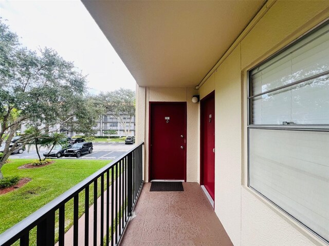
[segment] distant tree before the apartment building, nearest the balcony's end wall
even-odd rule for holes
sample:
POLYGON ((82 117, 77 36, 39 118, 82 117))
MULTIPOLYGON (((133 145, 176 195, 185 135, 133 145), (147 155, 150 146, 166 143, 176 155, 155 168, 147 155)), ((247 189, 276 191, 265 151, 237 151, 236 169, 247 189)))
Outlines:
POLYGON ((132 119, 135 116, 135 97, 135 91, 123 88, 99 95, 104 108, 119 121, 126 136, 130 135, 132 119))

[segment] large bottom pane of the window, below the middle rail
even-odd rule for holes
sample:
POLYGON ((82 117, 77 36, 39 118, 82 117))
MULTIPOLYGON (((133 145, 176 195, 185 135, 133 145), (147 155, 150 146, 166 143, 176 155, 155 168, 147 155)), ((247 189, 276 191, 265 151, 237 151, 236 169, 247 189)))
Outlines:
POLYGON ((329 132, 249 129, 249 186, 329 240, 329 132))

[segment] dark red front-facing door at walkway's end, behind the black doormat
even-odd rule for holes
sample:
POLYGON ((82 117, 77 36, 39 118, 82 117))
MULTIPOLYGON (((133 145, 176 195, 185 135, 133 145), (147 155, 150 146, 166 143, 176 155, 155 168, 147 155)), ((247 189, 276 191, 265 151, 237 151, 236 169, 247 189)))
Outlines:
POLYGON ((186 103, 150 103, 150 180, 186 180, 186 103))

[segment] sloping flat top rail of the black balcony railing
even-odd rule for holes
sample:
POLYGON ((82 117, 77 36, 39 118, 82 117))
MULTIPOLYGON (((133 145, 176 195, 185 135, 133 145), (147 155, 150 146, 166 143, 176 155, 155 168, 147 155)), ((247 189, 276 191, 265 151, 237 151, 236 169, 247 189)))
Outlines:
POLYGON ((118 158, 114 159, 112 162, 108 163, 105 167, 101 168, 94 174, 90 175, 89 177, 82 180, 80 183, 75 185, 74 187, 70 188, 68 191, 64 192, 62 195, 58 196, 57 198, 53 199, 52 201, 48 202, 45 206, 38 209, 22 221, 16 223, 13 227, 9 228, 4 233, 0 234, 0 245, 3 245, 5 243, 8 243, 13 238, 20 237, 24 234, 24 231, 26 229, 31 230, 33 227, 38 224, 39 221, 41 221, 43 218, 46 217, 47 213, 50 211, 55 211, 59 209, 65 202, 73 198, 75 195, 80 193, 85 187, 90 185, 95 179, 100 177, 102 174, 107 172, 107 170, 111 169, 113 166, 115 166, 118 162, 120 162, 123 158, 125 158, 127 155, 132 153, 134 150, 136 150, 139 146, 143 145, 144 142, 140 142, 136 147, 132 148, 131 150, 125 152, 118 158))

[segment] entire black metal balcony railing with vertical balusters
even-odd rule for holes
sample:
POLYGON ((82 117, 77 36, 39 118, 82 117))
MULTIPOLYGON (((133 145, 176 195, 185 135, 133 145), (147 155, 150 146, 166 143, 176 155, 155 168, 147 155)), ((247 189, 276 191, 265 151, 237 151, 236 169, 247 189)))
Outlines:
MULTIPOLYGON (((53 246, 56 241, 58 241, 59 246, 64 246, 67 241, 69 241, 68 245, 73 244, 75 246, 117 245, 144 183, 142 179, 143 144, 142 142, 15 224, 0 235, 0 245, 7 246, 14 243, 18 245, 19 243, 21 246, 31 244, 53 246), (100 191, 98 189, 99 184, 100 191), (89 193, 90 187, 93 190, 91 195, 89 193), (81 193, 84 193, 83 227, 81 227, 80 221, 83 218, 79 216, 81 214, 79 214, 79 194, 83 195, 81 193), (89 202, 90 196, 94 200, 92 206, 89 202), (106 202, 104 201, 105 198, 106 202), (100 199, 100 206, 97 202, 98 199, 100 199), (70 201, 73 202, 73 206, 71 206, 73 227, 69 229, 73 230, 71 236, 65 235, 68 229, 65 228, 65 212, 67 212, 68 205, 66 208, 65 206, 70 201), (90 212, 93 215, 89 214, 90 212), (81 218, 79 219, 79 217, 81 218), (93 221, 89 221, 90 217, 93 221), (100 221, 98 221, 99 217, 100 221), (36 230, 34 242, 30 238, 32 230, 36 230), (81 238, 82 234, 84 236, 81 238)), ((68 173, 68 175, 70 174, 68 173)))

